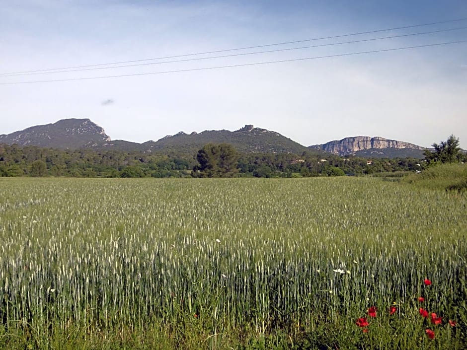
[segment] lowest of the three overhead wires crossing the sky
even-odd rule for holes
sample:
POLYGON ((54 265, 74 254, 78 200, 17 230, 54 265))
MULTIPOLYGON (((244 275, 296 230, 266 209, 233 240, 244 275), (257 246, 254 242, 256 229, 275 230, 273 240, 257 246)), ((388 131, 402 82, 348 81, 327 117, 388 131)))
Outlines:
POLYGON ((223 68, 236 68, 236 67, 246 67, 246 66, 259 66, 259 65, 268 65, 268 64, 273 64, 273 63, 297 62, 297 61, 316 60, 316 59, 333 58, 333 57, 342 57, 342 56, 354 56, 354 55, 363 55, 363 54, 373 54, 373 53, 378 53, 378 52, 388 52, 388 51, 397 51, 397 50, 407 50, 407 49, 415 49, 415 48, 423 48, 423 47, 433 47, 433 46, 441 46, 441 45, 459 44, 459 43, 465 43, 465 42, 467 42, 467 40, 449 41, 449 42, 443 42, 443 43, 425 44, 425 45, 415 45, 415 46, 406 46, 406 47, 399 47, 399 48, 392 48, 392 49, 381 49, 381 50, 372 50, 372 51, 351 52, 351 53, 336 54, 336 55, 327 55, 327 56, 306 57, 306 58, 289 59, 289 60, 278 60, 278 61, 268 61, 268 62, 254 62, 254 63, 236 64, 236 65, 228 65, 228 66, 215 66, 215 67, 205 67, 205 68, 190 68, 190 69, 183 69, 183 70, 163 70, 163 71, 145 72, 145 73, 120 74, 120 75, 103 75, 103 76, 80 77, 80 78, 67 78, 67 79, 14 81, 14 82, 3 82, 3 83, 0 83, 0 85, 17 85, 17 84, 32 84, 32 83, 45 83, 45 82, 74 81, 74 80, 92 80, 92 79, 120 78, 120 77, 126 77, 126 76, 167 74, 167 73, 180 73, 180 72, 198 71, 198 70, 215 70, 215 69, 223 69, 223 68))

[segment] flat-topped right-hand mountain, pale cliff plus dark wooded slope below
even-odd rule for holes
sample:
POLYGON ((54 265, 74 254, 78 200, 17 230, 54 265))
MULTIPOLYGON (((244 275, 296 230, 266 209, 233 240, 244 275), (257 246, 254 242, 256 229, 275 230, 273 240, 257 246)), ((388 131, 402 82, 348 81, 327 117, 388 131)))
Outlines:
POLYGON ((309 146, 340 156, 356 155, 366 158, 423 158, 424 147, 404 141, 381 137, 357 136, 309 146))

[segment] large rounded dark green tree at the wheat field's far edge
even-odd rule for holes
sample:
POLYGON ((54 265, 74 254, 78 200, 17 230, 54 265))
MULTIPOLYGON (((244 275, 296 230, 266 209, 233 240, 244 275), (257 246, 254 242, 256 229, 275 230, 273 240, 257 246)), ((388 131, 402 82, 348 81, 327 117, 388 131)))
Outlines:
POLYGON ((198 151, 195 177, 233 177, 237 172, 238 152, 229 143, 208 143, 198 151))

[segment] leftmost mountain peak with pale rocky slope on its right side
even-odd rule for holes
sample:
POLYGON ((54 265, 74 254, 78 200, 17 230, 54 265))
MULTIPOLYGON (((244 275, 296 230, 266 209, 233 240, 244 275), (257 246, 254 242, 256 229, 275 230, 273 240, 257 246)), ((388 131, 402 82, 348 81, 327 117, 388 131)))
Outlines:
POLYGON ((0 135, 0 143, 62 149, 76 149, 89 142, 100 143, 109 140, 104 129, 89 119, 63 119, 54 124, 38 125, 0 135))

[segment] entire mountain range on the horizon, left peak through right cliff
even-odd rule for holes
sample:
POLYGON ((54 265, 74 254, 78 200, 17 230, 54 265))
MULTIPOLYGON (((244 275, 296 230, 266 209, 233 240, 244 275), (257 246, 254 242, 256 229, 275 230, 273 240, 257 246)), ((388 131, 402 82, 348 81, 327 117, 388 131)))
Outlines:
POLYGON ((60 149, 114 149, 141 152, 196 153, 206 143, 228 142, 240 152, 272 152, 302 154, 307 151, 326 152, 340 156, 396 157, 397 154, 423 158, 425 147, 413 143, 389 140, 382 137, 347 137, 323 144, 304 146, 275 131, 245 125, 235 130, 205 130, 187 134, 183 131, 167 135, 157 141, 143 143, 111 140, 104 129, 90 119, 69 118, 56 123, 37 125, 0 135, 0 143, 35 145, 60 149))

